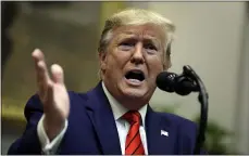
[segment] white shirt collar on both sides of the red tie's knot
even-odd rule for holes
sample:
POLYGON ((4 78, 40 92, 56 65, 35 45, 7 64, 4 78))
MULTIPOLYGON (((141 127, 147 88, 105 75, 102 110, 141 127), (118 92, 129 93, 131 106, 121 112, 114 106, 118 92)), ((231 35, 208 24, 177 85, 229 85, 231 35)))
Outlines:
MULTIPOLYGON (((102 81, 102 88, 103 88, 103 92, 107 95, 109 103, 112 107, 112 112, 114 115, 115 120, 119 120, 125 113, 128 112, 128 109, 126 107, 124 107, 120 102, 117 102, 112 95, 111 93, 108 91, 108 89, 105 88, 103 81, 102 81)), ((145 106, 142 106, 138 112, 140 113, 141 116, 141 120, 142 120, 142 126, 145 127, 145 118, 146 118, 146 113, 147 113, 147 107, 148 105, 146 104, 145 106)))

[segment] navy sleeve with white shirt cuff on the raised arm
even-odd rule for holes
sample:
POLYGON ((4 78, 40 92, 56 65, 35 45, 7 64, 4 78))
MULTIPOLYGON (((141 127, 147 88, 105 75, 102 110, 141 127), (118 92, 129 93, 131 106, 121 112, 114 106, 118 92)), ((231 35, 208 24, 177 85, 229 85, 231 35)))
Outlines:
POLYGON ((67 121, 61 133, 50 143, 42 127, 42 104, 37 94, 33 95, 24 109, 24 116, 27 125, 20 139, 17 139, 8 151, 8 155, 21 154, 55 154, 55 151, 64 136, 67 128, 67 121))

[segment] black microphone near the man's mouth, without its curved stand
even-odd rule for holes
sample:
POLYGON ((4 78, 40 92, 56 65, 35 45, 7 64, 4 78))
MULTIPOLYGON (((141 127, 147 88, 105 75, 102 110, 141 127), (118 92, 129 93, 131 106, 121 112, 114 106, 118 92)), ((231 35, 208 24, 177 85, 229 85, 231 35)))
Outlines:
POLYGON ((199 91, 197 83, 184 74, 177 75, 162 72, 158 75, 155 83, 159 89, 166 92, 175 92, 179 95, 187 95, 190 92, 199 91))

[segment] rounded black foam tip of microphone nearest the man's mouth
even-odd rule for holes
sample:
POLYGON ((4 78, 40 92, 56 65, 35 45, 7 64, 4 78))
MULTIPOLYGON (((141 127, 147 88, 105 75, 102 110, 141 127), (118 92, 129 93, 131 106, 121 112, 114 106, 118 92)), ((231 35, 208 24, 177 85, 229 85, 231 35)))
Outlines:
POLYGON ((158 75, 155 83, 159 89, 166 92, 174 92, 175 77, 177 75, 174 73, 162 72, 158 75))

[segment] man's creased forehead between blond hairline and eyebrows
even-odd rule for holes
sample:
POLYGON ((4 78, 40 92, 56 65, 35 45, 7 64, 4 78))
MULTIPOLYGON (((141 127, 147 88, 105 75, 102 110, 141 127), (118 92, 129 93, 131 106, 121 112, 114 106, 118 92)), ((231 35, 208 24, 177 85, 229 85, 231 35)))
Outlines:
POLYGON ((142 39, 151 39, 163 42, 165 35, 160 26, 155 25, 138 25, 138 26, 121 26, 114 31, 114 38, 137 37, 142 39))

